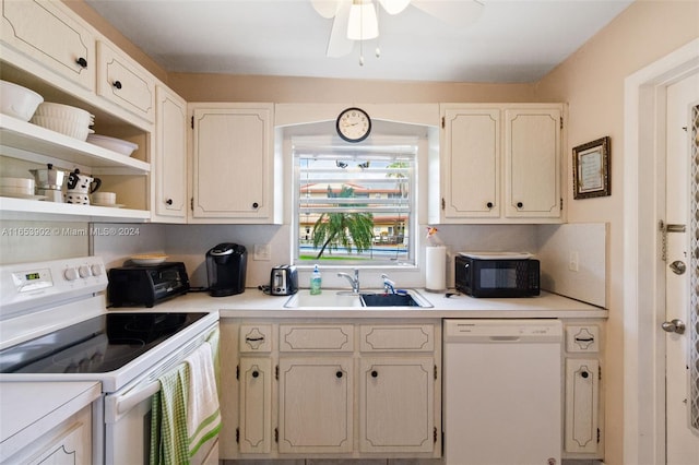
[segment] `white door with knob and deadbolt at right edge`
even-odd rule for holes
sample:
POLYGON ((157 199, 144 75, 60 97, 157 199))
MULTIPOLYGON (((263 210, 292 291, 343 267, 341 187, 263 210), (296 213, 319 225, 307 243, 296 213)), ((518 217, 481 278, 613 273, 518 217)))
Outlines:
POLYGON ((666 457, 688 465, 699 460, 699 74, 667 87, 666 131, 666 457))

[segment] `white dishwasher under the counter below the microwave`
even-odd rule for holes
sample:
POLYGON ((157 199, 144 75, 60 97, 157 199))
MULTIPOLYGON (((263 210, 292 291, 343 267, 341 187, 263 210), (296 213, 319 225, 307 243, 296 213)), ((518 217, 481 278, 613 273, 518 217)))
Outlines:
POLYGON ((446 465, 556 465, 562 324, 445 320, 446 465))

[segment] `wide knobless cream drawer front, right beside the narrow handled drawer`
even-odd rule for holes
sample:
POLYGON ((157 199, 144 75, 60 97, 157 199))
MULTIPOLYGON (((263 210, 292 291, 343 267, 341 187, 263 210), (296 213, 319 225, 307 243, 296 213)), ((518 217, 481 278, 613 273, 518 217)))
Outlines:
POLYGON ((352 324, 282 324, 280 351, 354 351, 352 324))

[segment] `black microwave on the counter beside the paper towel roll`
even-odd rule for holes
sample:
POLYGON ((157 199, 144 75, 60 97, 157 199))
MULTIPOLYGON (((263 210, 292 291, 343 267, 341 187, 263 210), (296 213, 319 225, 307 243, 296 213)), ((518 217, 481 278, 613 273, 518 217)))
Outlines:
POLYGON ((534 297, 540 263, 528 253, 467 253, 454 259, 457 290, 472 297, 534 297))

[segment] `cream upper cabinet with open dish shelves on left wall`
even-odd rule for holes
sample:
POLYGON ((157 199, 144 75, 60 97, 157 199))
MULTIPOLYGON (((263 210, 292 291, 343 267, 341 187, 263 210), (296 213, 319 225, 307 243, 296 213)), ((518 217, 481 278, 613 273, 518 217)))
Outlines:
MULTIPOLYGON (((100 191, 117 193, 117 203, 110 206, 48 202, 42 201, 40 195, 7 195, 0 198, 0 216, 52 220, 151 219, 156 79, 63 2, 2 0, 0 4, 0 79, 37 92, 45 102, 87 110, 94 115, 93 129, 97 134, 139 146, 129 156, 0 115, 2 176, 31 178, 29 169, 52 164, 57 169, 80 169, 98 177, 100 191)), ((182 102, 179 105, 185 108, 182 102)), ((180 134, 186 134, 183 121, 180 116, 180 134)), ((185 165, 183 136, 178 144, 178 156, 185 165)), ((185 172, 183 168, 181 171, 185 172)), ((185 192, 183 177, 178 182, 185 192)), ((180 206, 186 204, 181 192, 180 206)))

